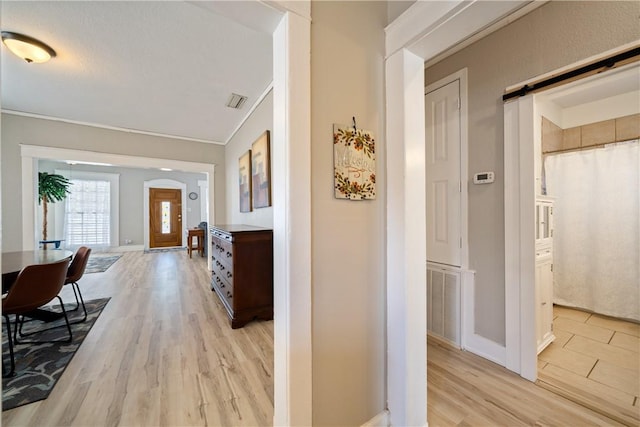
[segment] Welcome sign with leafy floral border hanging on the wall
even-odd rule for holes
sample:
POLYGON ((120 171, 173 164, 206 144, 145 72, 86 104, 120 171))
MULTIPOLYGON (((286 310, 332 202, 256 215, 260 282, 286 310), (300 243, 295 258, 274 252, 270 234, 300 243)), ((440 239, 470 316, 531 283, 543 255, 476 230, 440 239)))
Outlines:
POLYGON ((376 198, 376 146, 371 132, 354 125, 333 125, 336 199, 376 198))

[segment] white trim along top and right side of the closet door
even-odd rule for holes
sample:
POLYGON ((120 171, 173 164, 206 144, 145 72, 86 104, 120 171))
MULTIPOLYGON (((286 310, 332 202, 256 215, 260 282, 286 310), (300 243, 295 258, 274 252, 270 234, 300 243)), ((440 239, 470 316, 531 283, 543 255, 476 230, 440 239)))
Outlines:
POLYGON ((456 80, 460 81, 460 266, 469 268, 469 78, 468 69, 456 71, 424 89, 425 95, 456 80))

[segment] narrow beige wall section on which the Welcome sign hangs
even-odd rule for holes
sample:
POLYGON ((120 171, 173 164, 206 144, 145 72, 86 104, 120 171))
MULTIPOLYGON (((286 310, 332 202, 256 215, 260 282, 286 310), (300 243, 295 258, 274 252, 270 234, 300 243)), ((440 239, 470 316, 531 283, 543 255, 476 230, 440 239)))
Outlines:
POLYGON ((385 408, 385 2, 311 5, 313 424, 385 408), (334 123, 376 137, 377 199, 334 198, 334 123))

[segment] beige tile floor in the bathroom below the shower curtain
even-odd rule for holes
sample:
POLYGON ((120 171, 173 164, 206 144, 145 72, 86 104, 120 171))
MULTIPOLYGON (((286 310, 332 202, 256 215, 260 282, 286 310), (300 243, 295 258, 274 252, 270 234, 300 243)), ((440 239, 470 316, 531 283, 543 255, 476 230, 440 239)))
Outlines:
POLYGON ((640 425, 640 324, 554 306, 556 339, 538 356, 539 384, 640 425))

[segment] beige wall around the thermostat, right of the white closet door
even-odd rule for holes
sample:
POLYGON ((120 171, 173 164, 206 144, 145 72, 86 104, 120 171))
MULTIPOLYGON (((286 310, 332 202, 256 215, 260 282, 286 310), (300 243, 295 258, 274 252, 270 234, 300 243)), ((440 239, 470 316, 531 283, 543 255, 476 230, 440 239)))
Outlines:
MULTIPOLYGON (((503 108, 507 86, 640 38, 638 2, 553 1, 425 70, 428 85, 469 70, 469 260, 476 270, 476 333, 505 342, 503 108)), ((533 178, 532 178, 533 183, 533 178)))

